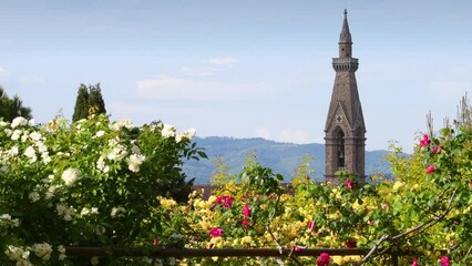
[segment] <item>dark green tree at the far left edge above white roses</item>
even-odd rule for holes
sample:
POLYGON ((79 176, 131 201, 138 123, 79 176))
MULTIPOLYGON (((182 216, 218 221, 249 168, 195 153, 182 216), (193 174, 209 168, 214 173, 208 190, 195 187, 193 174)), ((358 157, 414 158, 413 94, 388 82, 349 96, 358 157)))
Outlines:
POLYGON ((0 117, 11 122, 18 116, 32 119, 31 108, 23 106, 23 101, 18 95, 10 99, 3 88, 0 86, 0 117))

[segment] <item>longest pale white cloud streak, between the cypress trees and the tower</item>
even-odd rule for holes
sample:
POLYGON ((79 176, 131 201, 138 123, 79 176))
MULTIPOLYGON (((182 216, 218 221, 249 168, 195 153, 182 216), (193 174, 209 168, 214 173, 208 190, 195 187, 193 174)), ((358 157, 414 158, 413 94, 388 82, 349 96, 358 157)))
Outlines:
POLYGON ((265 88, 255 84, 160 76, 137 81, 137 95, 156 100, 242 100, 263 96, 265 88))

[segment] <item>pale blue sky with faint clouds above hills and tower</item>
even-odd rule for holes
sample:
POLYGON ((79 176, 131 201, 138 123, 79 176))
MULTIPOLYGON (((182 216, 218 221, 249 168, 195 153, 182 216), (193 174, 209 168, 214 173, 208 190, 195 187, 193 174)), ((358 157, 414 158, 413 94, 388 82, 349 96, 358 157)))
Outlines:
POLYGON ((113 121, 324 143, 345 8, 366 149, 411 152, 472 92, 470 0, 0 0, 0 85, 40 123, 100 82, 113 121))

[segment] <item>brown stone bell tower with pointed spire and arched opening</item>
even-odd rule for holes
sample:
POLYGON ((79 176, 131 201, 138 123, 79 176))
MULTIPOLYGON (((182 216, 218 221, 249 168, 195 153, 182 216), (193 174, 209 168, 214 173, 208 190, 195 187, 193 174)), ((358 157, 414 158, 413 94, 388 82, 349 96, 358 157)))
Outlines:
POLYGON ((346 171, 363 182, 366 124, 356 82, 359 60, 352 58, 352 38, 347 14, 345 10, 338 42, 339 57, 332 59, 336 79, 325 127, 326 180, 336 182, 335 173, 346 171))

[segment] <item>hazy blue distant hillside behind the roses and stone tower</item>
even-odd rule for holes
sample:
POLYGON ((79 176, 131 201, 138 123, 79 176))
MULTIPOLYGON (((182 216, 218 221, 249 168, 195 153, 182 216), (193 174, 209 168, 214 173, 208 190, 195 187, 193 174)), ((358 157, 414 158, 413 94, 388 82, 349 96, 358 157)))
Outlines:
MULTIPOLYGON (((322 181, 325 172, 325 145, 324 144, 294 144, 256 139, 234 137, 195 137, 197 146, 204 147, 208 160, 191 161, 184 165, 188 177, 196 177, 195 184, 208 184, 209 177, 215 171, 217 157, 222 157, 228 165, 229 173, 239 174, 248 153, 255 153, 258 161, 274 173, 283 174, 286 181, 294 177, 295 170, 301 164, 302 157, 311 156, 310 168, 315 170, 311 178, 322 181)), ((388 151, 366 152, 366 174, 383 173, 389 176, 390 165, 382 158, 388 151)))

